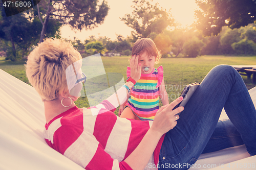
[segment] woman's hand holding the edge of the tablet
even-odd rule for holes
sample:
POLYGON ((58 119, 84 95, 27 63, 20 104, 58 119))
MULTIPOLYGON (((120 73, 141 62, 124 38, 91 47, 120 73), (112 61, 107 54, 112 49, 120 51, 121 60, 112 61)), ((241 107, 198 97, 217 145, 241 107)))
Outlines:
POLYGON ((180 118, 179 115, 176 114, 183 111, 184 107, 181 106, 175 110, 173 110, 173 108, 182 100, 183 98, 179 97, 169 105, 162 106, 156 113, 151 129, 157 131, 160 135, 173 129, 177 125, 176 117, 177 120, 180 118))

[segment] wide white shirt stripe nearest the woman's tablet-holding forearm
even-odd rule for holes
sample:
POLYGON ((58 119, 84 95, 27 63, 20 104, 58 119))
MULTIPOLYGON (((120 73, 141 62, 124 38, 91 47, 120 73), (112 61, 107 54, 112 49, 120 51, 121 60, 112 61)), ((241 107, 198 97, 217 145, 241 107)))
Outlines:
POLYGON ((116 123, 111 131, 108 142, 106 143, 105 152, 110 154, 113 159, 122 161, 127 151, 132 124, 126 118, 117 117, 116 123))

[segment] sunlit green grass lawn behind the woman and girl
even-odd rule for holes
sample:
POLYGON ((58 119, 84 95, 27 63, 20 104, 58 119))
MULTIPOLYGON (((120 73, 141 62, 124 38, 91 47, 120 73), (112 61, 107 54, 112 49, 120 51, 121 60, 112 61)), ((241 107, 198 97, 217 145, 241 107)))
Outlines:
MULTIPOLYGON (((129 66, 128 57, 102 57, 102 61, 106 73, 117 72, 123 75, 124 80, 126 79, 126 67, 129 66)), ((5 61, 4 58, 0 57, 0 69, 29 83, 24 63, 24 61, 5 61)), ((186 84, 201 82, 210 69, 219 64, 256 65, 256 57, 201 56, 197 58, 162 58, 158 64, 155 64, 155 67, 162 65, 164 68, 166 91, 169 95, 169 102, 172 102, 178 98, 186 84)), ((242 78, 248 89, 256 86, 246 76, 242 76, 242 78)), ((78 107, 89 107, 86 97, 80 98, 76 101, 76 104, 78 107)))

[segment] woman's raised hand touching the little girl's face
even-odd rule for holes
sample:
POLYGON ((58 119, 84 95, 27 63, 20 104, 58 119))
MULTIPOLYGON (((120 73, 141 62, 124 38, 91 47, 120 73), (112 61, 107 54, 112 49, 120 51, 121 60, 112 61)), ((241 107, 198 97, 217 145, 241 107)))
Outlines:
POLYGON ((133 55, 130 60, 131 67, 131 78, 136 82, 140 79, 141 76, 141 63, 139 63, 139 55, 133 55))

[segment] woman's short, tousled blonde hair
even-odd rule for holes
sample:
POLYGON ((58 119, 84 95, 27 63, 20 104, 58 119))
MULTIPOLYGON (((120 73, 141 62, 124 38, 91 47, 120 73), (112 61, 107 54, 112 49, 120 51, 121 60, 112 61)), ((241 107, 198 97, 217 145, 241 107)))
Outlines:
POLYGON ((60 39, 48 38, 34 46, 25 65, 26 74, 42 101, 54 100, 59 92, 68 91, 66 68, 80 59, 73 45, 60 39))

